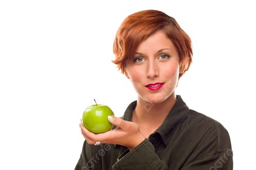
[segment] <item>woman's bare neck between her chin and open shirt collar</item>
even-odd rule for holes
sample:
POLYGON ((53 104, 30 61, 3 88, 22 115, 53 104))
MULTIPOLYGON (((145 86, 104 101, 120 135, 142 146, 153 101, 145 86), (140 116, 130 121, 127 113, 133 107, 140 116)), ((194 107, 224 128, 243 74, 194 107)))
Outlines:
POLYGON ((136 108, 132 114, 132 122, 137 123, 141 128, 157 129, 175 103, 176 94, 174 92, 161 103, 149 103, 138 97, 136 108))

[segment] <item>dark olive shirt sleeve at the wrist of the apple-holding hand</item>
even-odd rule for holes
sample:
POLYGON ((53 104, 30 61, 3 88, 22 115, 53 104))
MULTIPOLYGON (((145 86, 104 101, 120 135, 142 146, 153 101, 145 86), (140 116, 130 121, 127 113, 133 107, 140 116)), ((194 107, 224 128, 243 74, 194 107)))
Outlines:
POLYGON ((154 151, 154 146, 145 138, 142 143, 129 152, 124 151, 112 166, 117 169, 169 169, 166 162, 159 159, 154 151))

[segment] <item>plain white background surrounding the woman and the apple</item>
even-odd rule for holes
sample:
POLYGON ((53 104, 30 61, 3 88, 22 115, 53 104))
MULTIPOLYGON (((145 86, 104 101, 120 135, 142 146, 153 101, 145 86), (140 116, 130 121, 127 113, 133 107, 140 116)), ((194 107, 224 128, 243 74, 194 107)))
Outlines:
POLYGON ((111 60, 114 36, 133 12, 161 10, 193 42, 176 93, 230 133, 234 169, 255 153, 255 5, 252 1, 1 1, 0 169, 73 169, 84 109, 116 116, 137 99, 111 60))

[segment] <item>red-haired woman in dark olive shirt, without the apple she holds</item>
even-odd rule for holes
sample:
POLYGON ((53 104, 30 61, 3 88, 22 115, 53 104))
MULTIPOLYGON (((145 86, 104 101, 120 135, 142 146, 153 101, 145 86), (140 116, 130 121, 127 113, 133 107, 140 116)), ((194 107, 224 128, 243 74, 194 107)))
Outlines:
POLYGON ((175 94, 192 62, 191 40, 176 20, 157 10, 128 16, 113 53, 138 93, 111 131, 85 142, 75 169, 233 169, 227 130, 187 107, 175 94))

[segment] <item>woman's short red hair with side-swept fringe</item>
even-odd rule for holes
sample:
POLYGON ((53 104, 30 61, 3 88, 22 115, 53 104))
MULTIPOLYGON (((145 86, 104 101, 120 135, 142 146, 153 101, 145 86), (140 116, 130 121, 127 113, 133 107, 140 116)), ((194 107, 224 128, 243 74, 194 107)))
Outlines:
MULTIPOLYGON (((120 25, 113 44, 116 60, 112 60, 124 74, 127 61, 131 62, 139 44, 154 32, 163 30, 179 54, 180 68, 184 73, 192 62, 192 42, 173 17, 157 10, 144 10, 126 17, 120 25)), ((179 74, 179 78, 184 74, 179 74)))

